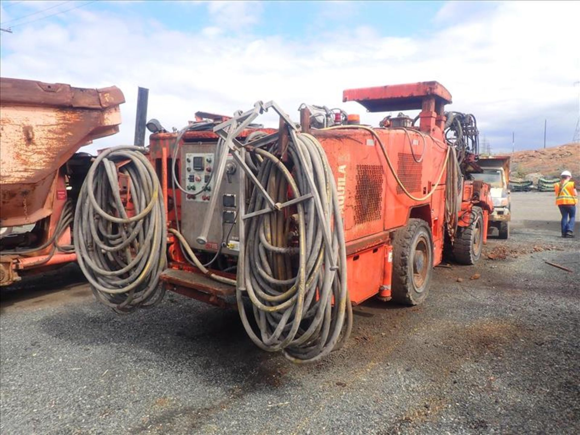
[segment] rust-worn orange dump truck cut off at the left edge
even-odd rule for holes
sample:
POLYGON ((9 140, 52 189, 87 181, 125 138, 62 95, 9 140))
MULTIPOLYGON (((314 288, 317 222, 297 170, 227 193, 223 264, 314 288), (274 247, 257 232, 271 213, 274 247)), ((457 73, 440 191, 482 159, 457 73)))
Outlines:
POLYGON ((119 131, 112 86, 0 78, 0 285, 74 262, 75 200, 91 164, 77 153, 119 131))

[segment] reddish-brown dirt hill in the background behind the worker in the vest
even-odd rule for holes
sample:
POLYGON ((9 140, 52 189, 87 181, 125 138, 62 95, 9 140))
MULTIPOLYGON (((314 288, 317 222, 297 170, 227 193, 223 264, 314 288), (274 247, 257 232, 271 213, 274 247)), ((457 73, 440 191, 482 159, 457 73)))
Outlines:
POLYGON ((578 179, 580 173, 580 143, 568 143, 541 150, 516 151, 512 154, 512 178, 534 174, 559 177, 564 169, 578 179))

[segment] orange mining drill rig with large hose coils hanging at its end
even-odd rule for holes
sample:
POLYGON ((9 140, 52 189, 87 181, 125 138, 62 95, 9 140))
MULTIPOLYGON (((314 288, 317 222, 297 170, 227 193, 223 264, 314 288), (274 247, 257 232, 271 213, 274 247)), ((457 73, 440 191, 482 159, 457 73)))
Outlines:
POLYGON ((296 124, 274 102, 232 117, 197 113, 179 132, 156 120, 148 148, 93 162, 74 243, 97 298, 118 311, 167 289, 237 306, 249 337, 295 362, 338 349, 353 305, 425 300, 444 251, 473 264, 493 206, 473 115, 445 112, 437 82, 350 89, 344 102, 386 117, 306 106, 296 124), (264 111, 277 129, 253 124, 264 111))

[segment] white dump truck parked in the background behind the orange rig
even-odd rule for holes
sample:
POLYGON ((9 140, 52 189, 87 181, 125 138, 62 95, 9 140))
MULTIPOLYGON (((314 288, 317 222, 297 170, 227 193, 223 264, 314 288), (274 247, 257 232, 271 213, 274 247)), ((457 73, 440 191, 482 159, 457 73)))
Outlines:
POLYGON ((481 157, 478 165, 481 172, 470 173, 470 176, 491 186, 494 211, 489 217, 489 229, 498 229, 499 238, 506 239, 509 237, 509 222, 512 218, 509 189, 510 157, 509 155, 481 157))

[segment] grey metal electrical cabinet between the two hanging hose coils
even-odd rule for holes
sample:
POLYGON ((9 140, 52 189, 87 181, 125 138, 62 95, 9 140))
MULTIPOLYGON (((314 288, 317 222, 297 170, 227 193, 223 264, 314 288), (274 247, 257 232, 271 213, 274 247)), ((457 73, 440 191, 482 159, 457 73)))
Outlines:
POLYGON ((180 154, 180 183, 187 193, 182 192, 181 228, 190 247, 202 251, 216 252, 223 244, 222 253, 238 255, 240 250, 237 216, 238 195, 240 193, 237 164, 227 156, 222 186, 216 192, 215 171, 218 162, 214 155, 215 142, 184 142, 180 154), (218 195, 213 216, 206 216, 209 200, 218 195), (208 242, 201 245, 196 238, 201 233, 204 219, 211 219, 208 242))

